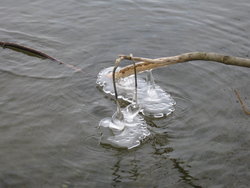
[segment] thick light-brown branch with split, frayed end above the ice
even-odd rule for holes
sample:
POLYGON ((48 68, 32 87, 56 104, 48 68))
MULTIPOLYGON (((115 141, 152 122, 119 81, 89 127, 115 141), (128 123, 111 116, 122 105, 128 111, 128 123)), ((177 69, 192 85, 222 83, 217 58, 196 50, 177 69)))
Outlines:
MULTIPOLYGON (((250 59, 240 58, 234 56, 227 56, 218 53, 206 53, 206 52, 190 52, 172 57, 162 57, 157 59, 148 59, 143 57, 131 57, 126 55, 120 55, 123 59, 133 60, 139 62, 136 64, 137 72, 143 72, 150 69, 164 67, 176 63, 183 63, 187 61, 203 60, 203 61, 215 61, 226 65, 235 65, 250 68, 250 59)), ((116 78, 123 78, 134 74, 133 65, 126 66, 120 69, 116 73, 116 78)))

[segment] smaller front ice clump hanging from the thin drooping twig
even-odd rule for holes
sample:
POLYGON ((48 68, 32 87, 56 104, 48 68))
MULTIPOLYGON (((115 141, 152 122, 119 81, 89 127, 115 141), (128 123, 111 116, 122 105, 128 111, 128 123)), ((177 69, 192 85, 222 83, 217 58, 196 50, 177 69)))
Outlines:
POLYGON ((138 114, 139 110, 136 105, 130 104, 112 118, 102 119, 99 123, 101 143, 127 149, 139 146, 150 135, 146 122, 138 114))

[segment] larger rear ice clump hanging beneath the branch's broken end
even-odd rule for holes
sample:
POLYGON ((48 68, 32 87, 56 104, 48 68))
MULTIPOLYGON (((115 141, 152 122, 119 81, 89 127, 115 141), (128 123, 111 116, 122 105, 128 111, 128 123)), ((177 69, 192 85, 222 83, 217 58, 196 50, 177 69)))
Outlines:
MULTIPOLYGON (((119 68, 117 69, 117 71, 119 68)), ((114 87, 112 82, 113 67, 103 69, 97 77, 96 83, 103 87, 103 91, 107 94, 114 95, 114 87)), ((143 74, 137 75, 137 98, 141 112, 146 116, 155 118, 163 117, 171 114, 175 108, 176 102, 166 93, 160 86, 154 83, 151 71, 148 71, 147 78, 143 74)), ((119 79, 116 83, 118 98, 128 102, 133 101, 134 97, 134 75, 119 79)))

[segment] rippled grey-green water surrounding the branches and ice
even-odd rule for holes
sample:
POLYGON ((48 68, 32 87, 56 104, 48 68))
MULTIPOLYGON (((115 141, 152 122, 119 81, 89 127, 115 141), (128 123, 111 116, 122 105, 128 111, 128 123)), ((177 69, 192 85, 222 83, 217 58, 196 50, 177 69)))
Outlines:
POLYGON ((99 144, 115 102, 96 87, 118 54, 190 51, 249 56, 247 0, 3 0, 2 41, 82 68, 0 50, 0 187, 248 187, 249 69, 188 62, 154 70, 176 101, 145 118, 150 138, 132 150, 99 144))

